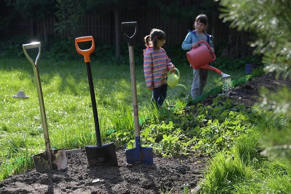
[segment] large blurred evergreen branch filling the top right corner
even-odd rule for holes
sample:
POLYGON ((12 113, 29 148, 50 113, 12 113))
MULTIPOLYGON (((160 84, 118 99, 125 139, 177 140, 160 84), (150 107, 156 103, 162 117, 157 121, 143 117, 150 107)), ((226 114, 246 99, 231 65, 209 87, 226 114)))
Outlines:
POLYGON ((256 32, 251 45, 264 55, 268 71, 290 74, 291 1, 289 0, 222 0, 220 18, 231 21, 230 27, 256 32))

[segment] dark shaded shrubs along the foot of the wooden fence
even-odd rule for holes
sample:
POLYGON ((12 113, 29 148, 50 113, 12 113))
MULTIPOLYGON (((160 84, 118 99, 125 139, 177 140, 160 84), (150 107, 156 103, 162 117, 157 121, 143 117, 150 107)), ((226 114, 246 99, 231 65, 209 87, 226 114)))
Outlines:
MULTIPOLYGON (((75 38, 49 36, 48 42, 45 43, 42 37, 28 37, 27 35, 15 36, 10 40, 0 41, 0 56, 22 58, 24 57, 22 44, 37 41, 42 43, 42 59, 51 59, 56 61, 82 59, 82 56, 76 51, 75 38)), ((123 65, 129 64, 129 51, 126 41, 121 40, 119 60, 116 60, 115 57, 115 42, 112 44, 99 40, 94 40, 94 42, 95 51, 90 55, 92 60, 123 65)), ((78 45, 80 49, 89 49, 91 47, 91 42, 81 42, 78 45)), ((134 45, 135 65, 143 65, 143 49, 145 48, 145 45, 142 44, 134 45)), ((165 50, 174 65, 189 65, 186 57, 187 51, 182 50, 181 45, 172 47, 167 47, 165 45, 165 50)), ((261 59, 258 56, 249 56, 240 59, 217 57, 216 61, 212 63, 212 66, 217 67, 218 69, 243 71, 245 64, 247 63, 262 64, 261 59)))

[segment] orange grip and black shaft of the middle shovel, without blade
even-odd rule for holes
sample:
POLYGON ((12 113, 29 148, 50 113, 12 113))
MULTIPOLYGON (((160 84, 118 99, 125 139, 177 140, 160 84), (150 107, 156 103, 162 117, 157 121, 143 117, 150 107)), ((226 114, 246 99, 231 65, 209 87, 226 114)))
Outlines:
POLYGON ((75 39, 75 47, 77 49, 77 52, 84 56, 86 69, 87 69, 87 75, 88 75, 88 82, 89 82, 89 89, 90 89, 90 96, 91 96, 91 103, 92 103, 92 110, 93 110, 93 117, 94 117, 94 123, 95 123, 97 146, 102 146, 102 144, 101 144, 101 135, 100 135, 100 127, 99 127, 99 120, 98 120, 98 112, 97 112, 97 105, 96 105, 94 85, 93 85, 91 65, 90 65, 90 55, 95 50, 94 39, 93 39, 92 36, 84 36, 84 37, 76 38, 75 39), (79 49, 78 42, 86 42, 86 41, 92 41, 91 48, 87 49, 87 50, 79 49))

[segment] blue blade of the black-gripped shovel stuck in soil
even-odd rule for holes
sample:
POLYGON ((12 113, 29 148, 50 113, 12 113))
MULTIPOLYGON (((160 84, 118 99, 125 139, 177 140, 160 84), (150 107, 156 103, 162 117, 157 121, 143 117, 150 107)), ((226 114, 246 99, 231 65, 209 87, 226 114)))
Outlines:
POLYGON ((145 164, 154 164, 152 147, 137 146, 132 149, 126 149, 126 162, 134 164, 135 162, 142 162, 145 164))

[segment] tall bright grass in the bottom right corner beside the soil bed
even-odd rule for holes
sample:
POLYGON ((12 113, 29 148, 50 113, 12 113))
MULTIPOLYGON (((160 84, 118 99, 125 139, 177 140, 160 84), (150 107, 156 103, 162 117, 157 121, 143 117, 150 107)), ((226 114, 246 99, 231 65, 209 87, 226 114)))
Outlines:
POLYGON ((290 163, 262 157, 261 137, 260 130, 250 131, 226 155, 211 159, 200 193, 291 193, 290 163))

